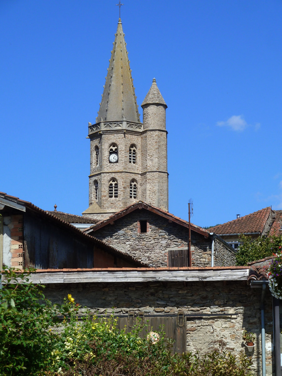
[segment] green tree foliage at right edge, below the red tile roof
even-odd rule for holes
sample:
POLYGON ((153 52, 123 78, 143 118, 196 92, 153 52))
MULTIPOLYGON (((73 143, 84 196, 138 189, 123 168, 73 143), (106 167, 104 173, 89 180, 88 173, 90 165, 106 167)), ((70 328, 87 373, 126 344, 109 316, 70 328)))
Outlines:
POLYGON ((250 236, 241 235, 240 246, 236 254, 237 265, 247 265, 248 262, 260 260, 281 252, 282 235, 261 237, 252 240, 250 236))

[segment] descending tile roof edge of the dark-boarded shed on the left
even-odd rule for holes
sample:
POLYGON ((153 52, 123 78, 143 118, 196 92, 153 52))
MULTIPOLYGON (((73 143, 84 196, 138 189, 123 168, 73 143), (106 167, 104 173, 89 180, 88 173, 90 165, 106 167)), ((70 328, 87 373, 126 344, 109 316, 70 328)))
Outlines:
POLYGON ((133 258, 132 256, 128 255, 127 253, 121 252, 121 251, 115 249, 114 247, 109 246, 108 244, 104 243, 102 240, 99 240, 99 239, 97 239, 97 238, 95 238, 95 237, 93 237, 91 235, 88 235, 87 233, 85 233, 85 232, 77 229, 76 227, 74 227, 72 224, 65 222, 61 218, 54 217, 50 212, 38 208, 38 206, 33 205, 29 201, 21 200, 18 197, 10 196, 10 195, 8 195, 8 194, 6 194, 4 192, 0 192, 0 198, 1 197, 3 199, 9 200, 9 201, 14 202, 14 203, 17 203, 19 205, 23 205, 26 208, 29 208, 30 210, 37 212, 39 215, 42 215, 42 217, 48 218, 50 221, 52 221, 53 223, 55 223, 56 226, 68 229, 71 232, 75 233, 76 236, 78 236, 78 237, 82 237, 84 239, 87 239, 88 241, 90 241, 92 243, 93 242, 96 243, 96 244, 98 243, 100 247, 102 247, 103 249, 107 250, 109 253, 112 253, 114 255, 120 256, 120 257, 122 257, 124 259, 127 259, 129 261, 134 261, 140 267, 149 267, 148 264, 145 264, 144 262, 139 261, 139 260, 133 258))

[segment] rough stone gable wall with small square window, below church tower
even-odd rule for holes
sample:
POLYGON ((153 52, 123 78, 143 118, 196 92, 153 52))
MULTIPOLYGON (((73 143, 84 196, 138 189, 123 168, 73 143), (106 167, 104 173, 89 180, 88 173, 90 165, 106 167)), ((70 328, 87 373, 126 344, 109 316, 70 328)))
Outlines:
MULTIPOLYGON (((165 267, 168 249, 187 247, 188 229, 144 209, 138 209, 92 234, 121 252, 154 267, 165 267), (149 231, 138 233, 138 221, 147 220, 149 231)), ((208 235, 208 234, 207 234, 208 235)), ((211 239, 191 232, 192 266, 211 265, 211 239)))

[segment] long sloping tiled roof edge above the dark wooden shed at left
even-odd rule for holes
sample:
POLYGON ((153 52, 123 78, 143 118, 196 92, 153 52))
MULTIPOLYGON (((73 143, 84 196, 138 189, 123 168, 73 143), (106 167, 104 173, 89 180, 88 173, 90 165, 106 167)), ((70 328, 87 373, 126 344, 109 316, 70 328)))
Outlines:
POLYGON ((95 237, 93 237, 91 235, 88 235, 87 233, 85 233, 85 232, 81 231, 80 229, 78 229, 77 227, 73 226, 71 223, 67 223, 64 220, 62 220, 61 218, 55 217, 54 215, 50 214, 50 212, 45 211, 44 209, 39 208, 38 206, 34 205, 30 201, 24 201, 24 200, 19 199, 18 197, 10 196, 10 195, 8 195, 8 194, 6 194, 4 192, 0 192, 0 196, 2 196, 2 195, 4 195, 5 198, 7 198, 9 200, 12 199, 11 201, 23 203, 24 205, 26 205, 30 209, 34 209, 35 211, 37 211, 37 212, 39 212, 41 214, 44 214, 44 215, 47 215, 47 216, 51 217, 53 220, 59 221, 64 226, 69 226, 74 232, 76 232, 80 236, 87 237, 90 241, 93 241, 93 240, 97 241, 97 243, 101 244, 105 248, 108 248, 110 252, 117 253, 118 255, 123 256, 124 258, 126 258, 128 260, 133 260, 133 261, 137 262, 138 264, 144 265, 144 267, 148 267, 147 264, 145 264, 144 262, 142 262, 140 260, 135 259, 134 257, 130 256, 128 253, 121 252, 120 250, 118 250, 118 249, 116 249, 116 248, 114 248, 112 246, 109 246, 108 244, 104 243, 102 240, 97 239, 97 238, 95 238, 95 237))

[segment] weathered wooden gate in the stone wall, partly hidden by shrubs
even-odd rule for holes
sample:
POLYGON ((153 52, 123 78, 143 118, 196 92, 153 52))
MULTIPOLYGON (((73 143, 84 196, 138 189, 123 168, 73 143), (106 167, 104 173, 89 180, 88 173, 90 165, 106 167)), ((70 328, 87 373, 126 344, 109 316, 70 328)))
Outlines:
POLYGON ((165 337, 175 340, 171 347, 172 353, 181 354, 186 351, 186 317, 184 317, 183 311, 178 311, 177 314, 152 314, 146 316, 143 312, 129 311, 128 315, 115 315, 115 318, 118 319, 118 328, 125 329, 126 333, 130 332, 139 322, 141 325, 145 324, 145 327, 139 333, 139 337, 147 337, 151 331, 160 335, 164 333, 165 337))

